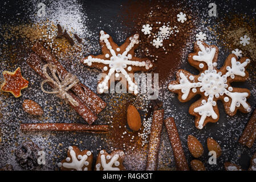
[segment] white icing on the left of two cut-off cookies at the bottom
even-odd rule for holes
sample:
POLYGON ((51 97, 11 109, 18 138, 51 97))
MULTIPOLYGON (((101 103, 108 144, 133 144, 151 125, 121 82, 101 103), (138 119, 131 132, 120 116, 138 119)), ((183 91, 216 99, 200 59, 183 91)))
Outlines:
MULTIPOLYGON (((78 155, 78 158, 76 158, 76 153, 73 150, 73 148, 68 147, 68 150, 70 150, 72 162, 71 163, 63 163, 62 166, 65 168, 76 169, 77 171, 82 171, 82 167, 86 164, 86 160, 87 160, 88 156, 87 155, 83 155, 83 156, 78 155)), ((67 159, 66 159, 66 161, 67 161, 67 159)), ((69 162, 69 161, 67 161, 67 162, 69 162)), ((86 168, 84 168, 84 169, 86 169, 86 168)))

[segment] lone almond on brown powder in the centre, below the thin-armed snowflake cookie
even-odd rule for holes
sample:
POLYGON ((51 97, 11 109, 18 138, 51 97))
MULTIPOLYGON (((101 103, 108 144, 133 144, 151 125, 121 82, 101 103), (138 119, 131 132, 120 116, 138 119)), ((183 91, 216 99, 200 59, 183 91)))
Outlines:
POLYGON ((131 130, 138 131, 141 127, 140 114, 136 107, 129 105, 127 109, 127 123, 131 130))

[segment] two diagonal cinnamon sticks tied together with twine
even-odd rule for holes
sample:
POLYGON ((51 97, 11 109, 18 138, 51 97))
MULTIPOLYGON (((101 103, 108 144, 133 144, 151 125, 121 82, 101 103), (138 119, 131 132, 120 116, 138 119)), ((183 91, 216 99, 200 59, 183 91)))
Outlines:
MULTIPOLYGON (((43 74, 43 65, 44 64, 53 64, 56 66, 56 69, 60 73, 60 77, 64 79, 68 71, 59 63, 54 55, 52 55, 46 48, 44 48, 40 43, 35 43, 32 46, 32 53, 30 53, 27 64, 34 69, 39 76, 41 76, 44 80, 46 77, 43 74)), ((51 82, 48 82, 52 88, 54 85, 51 82)), ((78 102, 78 106, 72 105, 70 102, 70 106, 89 124, 91 125, 97 119, 97 114, 100 113, 101 110, 106 106, 105 102, 101 100, 97 94, 92 92, 87 86, 79 82, 75 86, 73 86, 70 90, 67 91, 70 96, 74 98, 76 102, 78 102)))

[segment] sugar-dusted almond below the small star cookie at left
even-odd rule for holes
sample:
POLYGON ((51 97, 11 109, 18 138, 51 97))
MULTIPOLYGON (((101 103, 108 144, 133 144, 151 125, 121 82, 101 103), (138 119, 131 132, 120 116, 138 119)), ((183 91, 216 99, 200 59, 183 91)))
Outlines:
POLYGON ((39 104, 32 100, 24 100, 22 104, 23 110, 32 115, 43 115, 43 109, 39 104))

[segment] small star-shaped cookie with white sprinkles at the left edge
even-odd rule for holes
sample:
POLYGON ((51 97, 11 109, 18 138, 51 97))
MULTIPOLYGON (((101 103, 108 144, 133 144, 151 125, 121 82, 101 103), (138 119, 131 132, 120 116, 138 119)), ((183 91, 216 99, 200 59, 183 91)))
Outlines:
POLYGON ((1 85, 3 92, 10 92, 14 97, 21 96, 21 90, 27 88, 29 81, 21 75, 21 68, 17 68, 14 72, 3 71, 5 81, 1 85))

